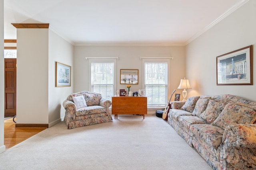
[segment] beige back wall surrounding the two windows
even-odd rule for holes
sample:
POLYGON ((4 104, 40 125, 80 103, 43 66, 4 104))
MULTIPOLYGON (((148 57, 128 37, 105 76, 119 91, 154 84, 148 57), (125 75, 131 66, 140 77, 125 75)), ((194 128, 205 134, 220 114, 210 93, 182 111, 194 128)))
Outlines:
MULTIPOLYGON (((168 46, 75 46, 74 53, 74 92, 89 90, 88 60, 86 57, 118 57, 116 87, 126 89, 120 84, 120 69, 138 69, 139 83, 132 85, 132 91, 142 89, 142 60, 140 57, 173 57, 170 61, 168 98, 174 89, 177 89, 180 79, 185 76, 185 47, 168 46)), ((177 89, 177 93, 182 90, 177 89)), ((174 96, 173 96, 174 98, 174 96)))

